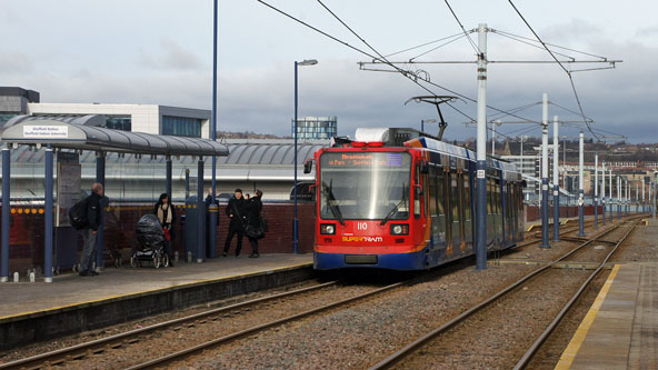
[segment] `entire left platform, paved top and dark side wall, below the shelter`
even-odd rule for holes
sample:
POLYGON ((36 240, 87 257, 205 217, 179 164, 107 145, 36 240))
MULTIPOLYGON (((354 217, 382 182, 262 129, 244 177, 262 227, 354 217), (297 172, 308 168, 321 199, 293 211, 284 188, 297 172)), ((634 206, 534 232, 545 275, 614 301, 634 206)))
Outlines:
MULTIPOLYGON (((108 268, 53 283, 0 283, 0 349, 269 289, 312 276, 312 254, 229 256, 172 268, 108 268)), ((24 279, 23 279, 24 281, 24 279)))

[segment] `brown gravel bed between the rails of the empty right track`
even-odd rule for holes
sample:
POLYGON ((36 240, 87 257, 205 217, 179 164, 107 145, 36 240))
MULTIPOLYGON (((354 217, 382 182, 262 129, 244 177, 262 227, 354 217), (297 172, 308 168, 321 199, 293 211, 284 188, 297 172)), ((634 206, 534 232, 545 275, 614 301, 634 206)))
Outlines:
POLYGON ((410 354, 396 369, 510 369, 589 276, 550 269, 410 354))

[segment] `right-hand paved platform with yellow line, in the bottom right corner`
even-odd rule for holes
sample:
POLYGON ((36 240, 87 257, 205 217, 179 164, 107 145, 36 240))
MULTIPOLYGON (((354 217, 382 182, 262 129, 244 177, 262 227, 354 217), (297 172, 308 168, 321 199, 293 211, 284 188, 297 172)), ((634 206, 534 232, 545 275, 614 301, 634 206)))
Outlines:
POLYGON ((556 369, 658 369, 658 263, 617 264, 556 369))

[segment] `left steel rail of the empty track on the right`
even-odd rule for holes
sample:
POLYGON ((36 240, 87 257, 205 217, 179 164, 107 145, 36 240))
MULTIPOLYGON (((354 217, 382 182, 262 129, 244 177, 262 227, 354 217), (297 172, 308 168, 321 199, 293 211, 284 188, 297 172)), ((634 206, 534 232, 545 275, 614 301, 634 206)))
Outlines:
POLYGON ((521 284, 524 284, 526 281, 537 277, 538 274, 547 271, 548 269, 550 269, 554 264, 561 262, 562 260, 571 257, 574 253, 576 253, 577 251, 579 251, 580 249, 585 248, 586 246, 592 243, 594 241, 596 241, 598 238, 601 238, 604 236, 607 236, 608 233, 617 230, 619 227, 621 227, 622 223, 618 223, 616 226, 614 226, 612 228, 605 230, 600 233, 598 233, 597 236, 595 236, 594 238, 587 240, 586 242, 581 243, 580 246, 576 247, 575 249, 572 249, 571 251, 567 252, 566 254, 564 254, 562 257, 558 258, 557 260, 548 263, 547 266, 539 268, 530 273, 528 273, 527 276, 522 277, 521 279, 519 279, 518 281, 514 282, 512 284, 508 286, 507 288, 505 288, 504 290, 500 290, 498 293, 491 296, 490 298, 488 298, 487 300, 471 307, 470 309, 461 312, 460 314, 458 314, 457 317, 455 317, 453 319, 451 319, 450 321, 443 323, 442 326, 440 326, 439 328, 426 333, 425 336, 413 340, 412 342, 408 343, 407 346, 405 346, 403 348, 399 349, 398 351, 396 351, 395 353, 390 354, 389 357, 387 357, 386 359, 381 360, 380 362, 376 363, 375 366, 370 367, 370 370, 378 370, 378 369, 387 369, 391 366, 393 366, 395 363, 397 363, 398 361, 400 361, 402 358, 407 357, 408 354, 410 354, 411 352, 413 352, 415 350, 417 350, 418 348, 425 346, 428 341, 430 341, 431 339, 433 339, 435 337, 446 332, 448 329, 455 327, 457 323, 461 322, 462 320, 467 319, 468 317, 470 317, 471 314, 480 311, 481 309, 483 309, 485 307, 489 306, 490 303, 495 302, 496 300, 498 300, 499 298, 506 296, 507 293, 511 292, 512 290, 515 290, 516 288, 520 287, 521 284))

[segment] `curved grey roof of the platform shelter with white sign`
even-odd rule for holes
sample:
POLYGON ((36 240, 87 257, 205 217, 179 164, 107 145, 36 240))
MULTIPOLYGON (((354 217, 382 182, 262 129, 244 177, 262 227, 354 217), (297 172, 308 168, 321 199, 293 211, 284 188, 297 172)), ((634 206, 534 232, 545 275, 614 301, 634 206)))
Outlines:
POLYGON ((123 152, 152 156, 229 156, 220 142, 100 127, 103 116, 17 116, 4 123, 0 138, 7 143, 50 144, 59 149, 123 152))

